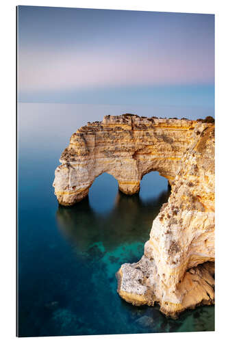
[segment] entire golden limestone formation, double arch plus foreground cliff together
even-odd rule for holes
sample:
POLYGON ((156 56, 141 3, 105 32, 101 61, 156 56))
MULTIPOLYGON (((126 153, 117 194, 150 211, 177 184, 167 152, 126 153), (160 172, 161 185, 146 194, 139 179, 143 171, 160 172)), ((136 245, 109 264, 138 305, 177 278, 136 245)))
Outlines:
POLYGON ((214 124, 187 119, 105 116, 71 136, 55 170, 55 195, 73 205, 107 172, 125 194, 158 171, 172 186, 153 221, 144 255, 119 269, 118 293, 135 305, 160 304, 177 317, 214 302, 214 124))

